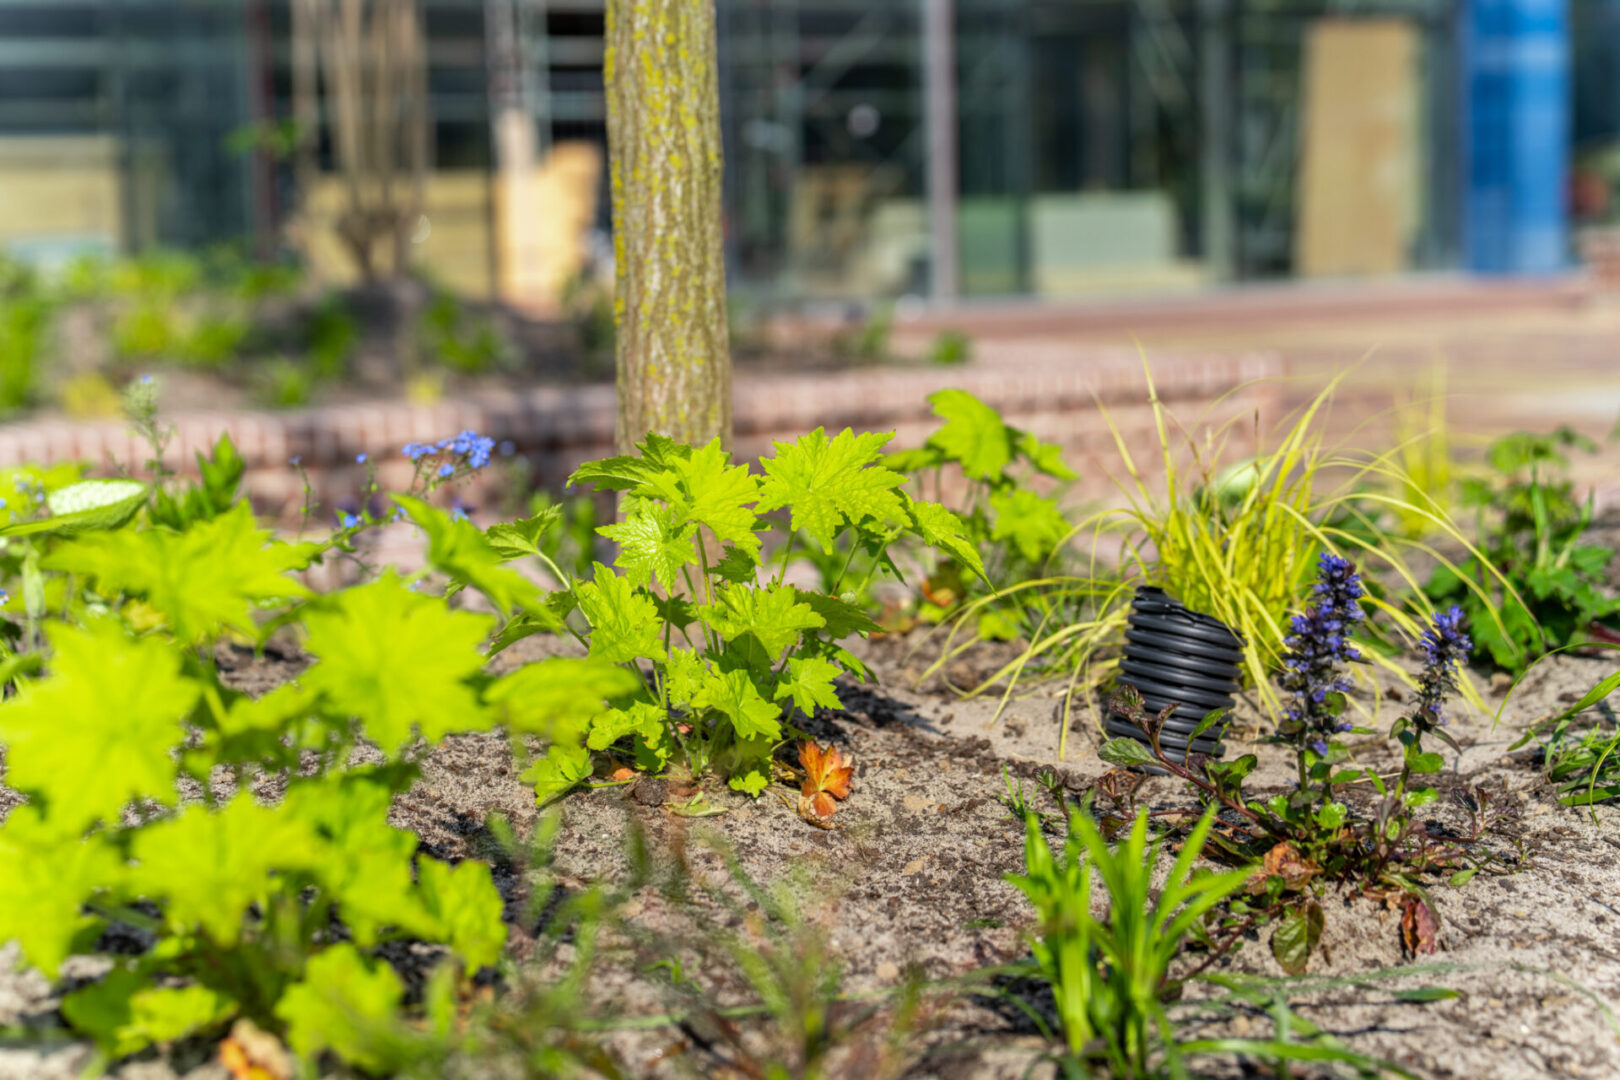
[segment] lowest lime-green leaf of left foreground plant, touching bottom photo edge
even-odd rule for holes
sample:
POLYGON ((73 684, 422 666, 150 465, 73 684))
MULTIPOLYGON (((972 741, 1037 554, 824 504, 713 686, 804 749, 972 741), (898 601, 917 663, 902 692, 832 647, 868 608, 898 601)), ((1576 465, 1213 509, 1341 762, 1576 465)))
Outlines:
POLYGON ((394 968, 342 944, 309 960, 303 981, 275 1004, 275 1015, 305 1061, 332 1051, 366 1072, 392 1074, 405 1064, 403 1041, 395 1036, 403 999, 405 984, 394 968))

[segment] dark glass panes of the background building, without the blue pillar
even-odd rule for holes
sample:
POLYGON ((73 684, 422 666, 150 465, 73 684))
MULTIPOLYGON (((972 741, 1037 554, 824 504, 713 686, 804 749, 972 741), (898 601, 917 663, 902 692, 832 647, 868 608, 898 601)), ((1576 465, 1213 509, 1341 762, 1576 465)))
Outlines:
MULTIPOLYGON (((927 2, 716 0, 739 291, 804 303, 933 288, 927 2)), ((510 21, 538 159, 562 146, 599 157, 603 0, 421 6, 442 189, 429 202, 447 230, 424 257, 488 291, 502 243, 491 19, 510 21)), ((966 296, 1466 266, 1461 0, 948 6, 957 170, 943 194, 966 296)), ((1583 220, 1617 201, 1581 201, 1580 181, 1620 183, 1615 11, 1576 0, 1571 15, 1583 220)), ((285 0, 0 2, 0 244, 40 257, 274 246, 300 196, 293 170, 241 141, 290 112, 288 21, 285 0), (21 209, 52 186, 83 189, 79 209, 21 209)), ((599 246, 606 170, 591 176, 573 219, 599 246)))

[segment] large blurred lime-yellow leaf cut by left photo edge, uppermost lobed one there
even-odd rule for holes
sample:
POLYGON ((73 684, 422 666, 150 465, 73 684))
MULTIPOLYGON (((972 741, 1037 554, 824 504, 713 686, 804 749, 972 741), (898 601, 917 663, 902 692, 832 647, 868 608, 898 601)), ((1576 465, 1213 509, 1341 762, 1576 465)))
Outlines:
POLYGON ((45 627, 52 675, 0 704, 6 784, 39 798, 65 832, 115 821, 131 798, 175 801, 181 721, 201 687, 178 651, 113 620, 45 627))

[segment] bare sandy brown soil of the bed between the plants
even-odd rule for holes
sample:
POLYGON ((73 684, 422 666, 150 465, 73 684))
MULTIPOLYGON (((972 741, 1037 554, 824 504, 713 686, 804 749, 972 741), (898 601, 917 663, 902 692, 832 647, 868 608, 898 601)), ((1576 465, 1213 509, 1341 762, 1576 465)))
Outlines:
MULTIPOLYGON (((501 664, 561 648, 528 640, 501 664)), ((812 721, 813 735, 841 746, 855 763, 854 792, 833 829, 802 821, 789 805, 792 792, 786 798, 768 793, 748 800, 711 790, 708 800, 726 813, 682 816, 674 810, 690 792, 664 780, 582 790, 557 805, 552 873, 564 895, 591 882, 632 881, 637 850, 650 863, 643 866, 646 884, 635 887, 624 907, 624 929, 612 934, 593 970, 591 997, 629 1014, 679 1009, 682 1001, 667 976, 671 965, 654 970, 663 959, 703 984, 710 1004, 752 1001, 737 965, 716 955, 716 942, 752 941, 768 954, 774 947, 773 955, 782 954, 782 942, 773 946, 770 931, 761 929, 740 874, 794 897, 818 946, 841 965, 844 991, 855 999, 886 1001, 883 991, 915 975, 940 991, 925 997, 897 1043, 901 1051, 883 1038, 893 1014, 880 1012, 865 1027, 857 1025, 826 1075, 1055 1075, 1042 1062, 1047 1043, 1035 1023, 1004 994, 944 989, 957 976, 1027 957, 1032 910, 1006 882, 1006 874, 1022 870, 1022 826, 1001 797, 1008 777, 1022 779, 1032 805, 1055 810, 1048 792, 1029 779, 1042 769, 1055 771, 1068 793, 1084 793, 1108 771, 1095 753, 1095 717, 1076 711, 1059 759, 1061 687, 1021 687, 998 716, 993 696, 961 699, 938 677, 915 685, 933 659, 932 648, 919 636, 870 643, 865 651, 878 685, 842 687, 844 708, 812 721), (735 858, 732 868, 729 858, 735 858), (671 887, 677 878, 685 881, 684 889, 671 887)), ((301 667, 295 651, 222 659, 251 690, 275 685, 301 667)), ((949 674, 969 685, 975 675, 995 670, 1000 659, 995 646, 985 646, 966 654, 949 674)), ((1476 675, 1486 703, 1500 709, 1500 717, 1458 706, 1450 732, 1463 750, 1448 753, 1439 777, 1442 798, 1430 808, 1429 827, 1464 831, 1466 813, 1448 793, 1484 789, 1505 810, 1487 842, 1507 858, 1523 858, 1523 868, 1481 873, 1461 887, 1443 879, 1426 882, 1442 918, 1440 950, 1421 959, 1427 970, 1395 975, 1392 968, 1413 963, 1403 955, 1400 913, 1371 897, 1330 891, 1324 949, 1312 957, 1309 972, 1328 978, 1291 988, 1299 1017, 1419 1077, 1620 1075, 1620 1023, 1609 1004, 1620 1001, 1620 944, 1614 941, 1620 929, 1617 811, 1597 808, 1594 814, 1560 806, 1541 777, 1534 750, 1510 750, 1526 724, 1567 708, 1612 670, 1610 659, 1557 657, 1536 669, 1508 699, 1497 696, 1500 685, 1494 691, 1487 678, 1476 675), (1354 981, 1343 981, 1346 976, 1354 981), (1426 986, 1458 996, 1413 1004, 1395 994, 1426 986)), ((1400 693, 1382 678, 1377 696, 1371 685, 1358 690, 1356 706, 1377 717, 1372 727, 1387 729, 1398 716, 1392 688, 1400 693)), ((1589 719, 1615 722, 1609 706, 1597 706, 1589 719)), ((1228 756, 1252 751, 1260 759, 1249 790, 1286 790, 1291 758, 1278 746, 1244 738, 1244 732, 1265 729, 1252 703, 1241 706, 1233 722, 1228 756)), ((1358 759, 1398 769, 1395 755, 1371 737, 1358 748, 1358 759)), ((505 816, 520 834, 541 816, 518 772, 504 738, 449 738, 424 753, 423 777, 399 798, 394 819, 413 829, 434 857, 491 858, 497 850, 486 827, 491 814, 505 816)), ((264 795, 274 798, 274 785, 264 795)), ((1145 780, 1137 798, 1153 810, 1194 806, 1184 789, 1166 777, 1145 780)), ((5 810, 0 803, 0 813, 5 810)), ((1056 827, 1051 836, 1058 836, 1056 827)), ((530 878, 499 863, 496 881, 509 900, 512 952, 520 967, 526 963, 541 976, 554 972, 567 949, 539 959, 536 929, 543 913, 526 904, 530 878)), ((1268 934, 1260 931, 1215 970, 1280 976, 1268 934)), ((787 946, 804 947, 802 941, 787 946)), ((57 1035, 58 999, 45 980, 13 967, 15 950, 0 954, 0 1027, 10 1030, 10 1038, 0 1041, 0 1080, 75 1075, 89 1061, 89 1049, 57 1035)), ((94 959, 70 965, 76 978, 96 972, 94 959)), ((1038 986, 1003 989, 1022 991, 1037 1015, 1047 1010, 1038 986)), ((1192 996, 1207 993, 1196 986, 1192 996)), ((1268 1030, 1262 1012, 1239 1010, 1200 1035, 1260 1036, 1268 1030)), ((747 1028, 744 1038, 766 1046, 771 1028, 747 1028)), ((744 1075, 727 1065, 735 1062, 735 1051, 727 1051, 723 1038, 705 1035, 701 1025, 622 1031, 611 1046, 627 1075, 744 1075)), ((1234 1061, 1205 1064, 1210 1075, 1262 1075, 1234 1061)), ((225 1074, 209 1061, 206 1048, 178 1048, 168 1057, 125 1064, 118 1075, 215 1080, 225 1074)))

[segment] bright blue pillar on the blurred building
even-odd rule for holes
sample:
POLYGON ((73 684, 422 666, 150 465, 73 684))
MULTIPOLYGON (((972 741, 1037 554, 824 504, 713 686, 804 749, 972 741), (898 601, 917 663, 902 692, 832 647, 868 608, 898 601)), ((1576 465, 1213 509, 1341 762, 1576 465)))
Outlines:
POLYGON ((1568 262, 1568 0, 1469 0, 1464 15, 1468 269, 1568 262))

